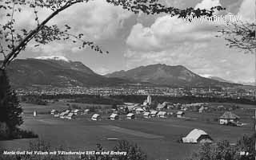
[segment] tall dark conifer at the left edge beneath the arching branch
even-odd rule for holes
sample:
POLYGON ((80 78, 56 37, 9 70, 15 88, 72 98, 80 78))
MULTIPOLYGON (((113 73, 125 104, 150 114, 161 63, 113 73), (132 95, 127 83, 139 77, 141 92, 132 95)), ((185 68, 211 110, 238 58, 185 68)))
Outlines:
POLYGON ((21 113, 22 107, 15 92, 10 88, 6 71, 0 69, 0 123, 6 125, 10 134, 23 123, 21 113))

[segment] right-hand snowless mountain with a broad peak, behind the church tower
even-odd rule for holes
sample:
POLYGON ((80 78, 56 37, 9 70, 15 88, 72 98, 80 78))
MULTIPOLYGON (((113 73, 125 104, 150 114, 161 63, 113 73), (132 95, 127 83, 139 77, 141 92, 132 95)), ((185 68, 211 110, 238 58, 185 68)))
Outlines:
POLYGON ((173 87, 233 87, 234 83, 222 82, 198 76, 194 72, 182 65, 170 66, 166 64, 151 64, 130 69, 128 71, 118 71, 105 75, 107 77, 122 78, 131 81, 148 82, 150 84, 161 84, 173 87))

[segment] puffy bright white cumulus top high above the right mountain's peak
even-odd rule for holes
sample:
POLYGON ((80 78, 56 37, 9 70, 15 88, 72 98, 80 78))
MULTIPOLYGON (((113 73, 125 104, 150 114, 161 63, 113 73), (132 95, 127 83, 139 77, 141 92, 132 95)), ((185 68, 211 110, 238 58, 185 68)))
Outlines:
POLYGON ((212 22, 187 22, 182 18, 162 16, 154 21, 150 27, 143 27, 138 23, 132 28, 126 44, 131 49, 161 50, 174 47, 184 42, 210 41, 216 29, 212 22))

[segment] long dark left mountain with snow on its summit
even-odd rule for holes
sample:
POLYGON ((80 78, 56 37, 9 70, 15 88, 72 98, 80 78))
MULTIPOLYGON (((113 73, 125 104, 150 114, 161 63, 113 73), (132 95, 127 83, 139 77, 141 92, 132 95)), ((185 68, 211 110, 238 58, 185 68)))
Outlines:
POLYGON ((7 69, 10 83, 15 88, 30 86, 110 86, 128 80, 107 78, 78 61, 54 59, 18 59, 7 69))

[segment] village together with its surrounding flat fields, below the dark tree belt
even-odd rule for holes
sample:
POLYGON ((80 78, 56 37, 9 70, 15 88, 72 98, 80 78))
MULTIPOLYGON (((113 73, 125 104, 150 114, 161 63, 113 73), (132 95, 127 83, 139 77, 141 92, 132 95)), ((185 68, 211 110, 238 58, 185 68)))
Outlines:
MULTIPOLYGON (((254 132, 254 105, 242 103, 177 103, 148 95, 117 104, 50 99, 46 105, 21 106, 22 128, 40 134, 52 146, 94 150, 101 144, 111 150, 119 140, 127 140, 140 144, 150 160, 187 158, 202 143, 235 144, 241 135, 254 132)), ((30 141, 4 145, 24 148, 30 141)))

